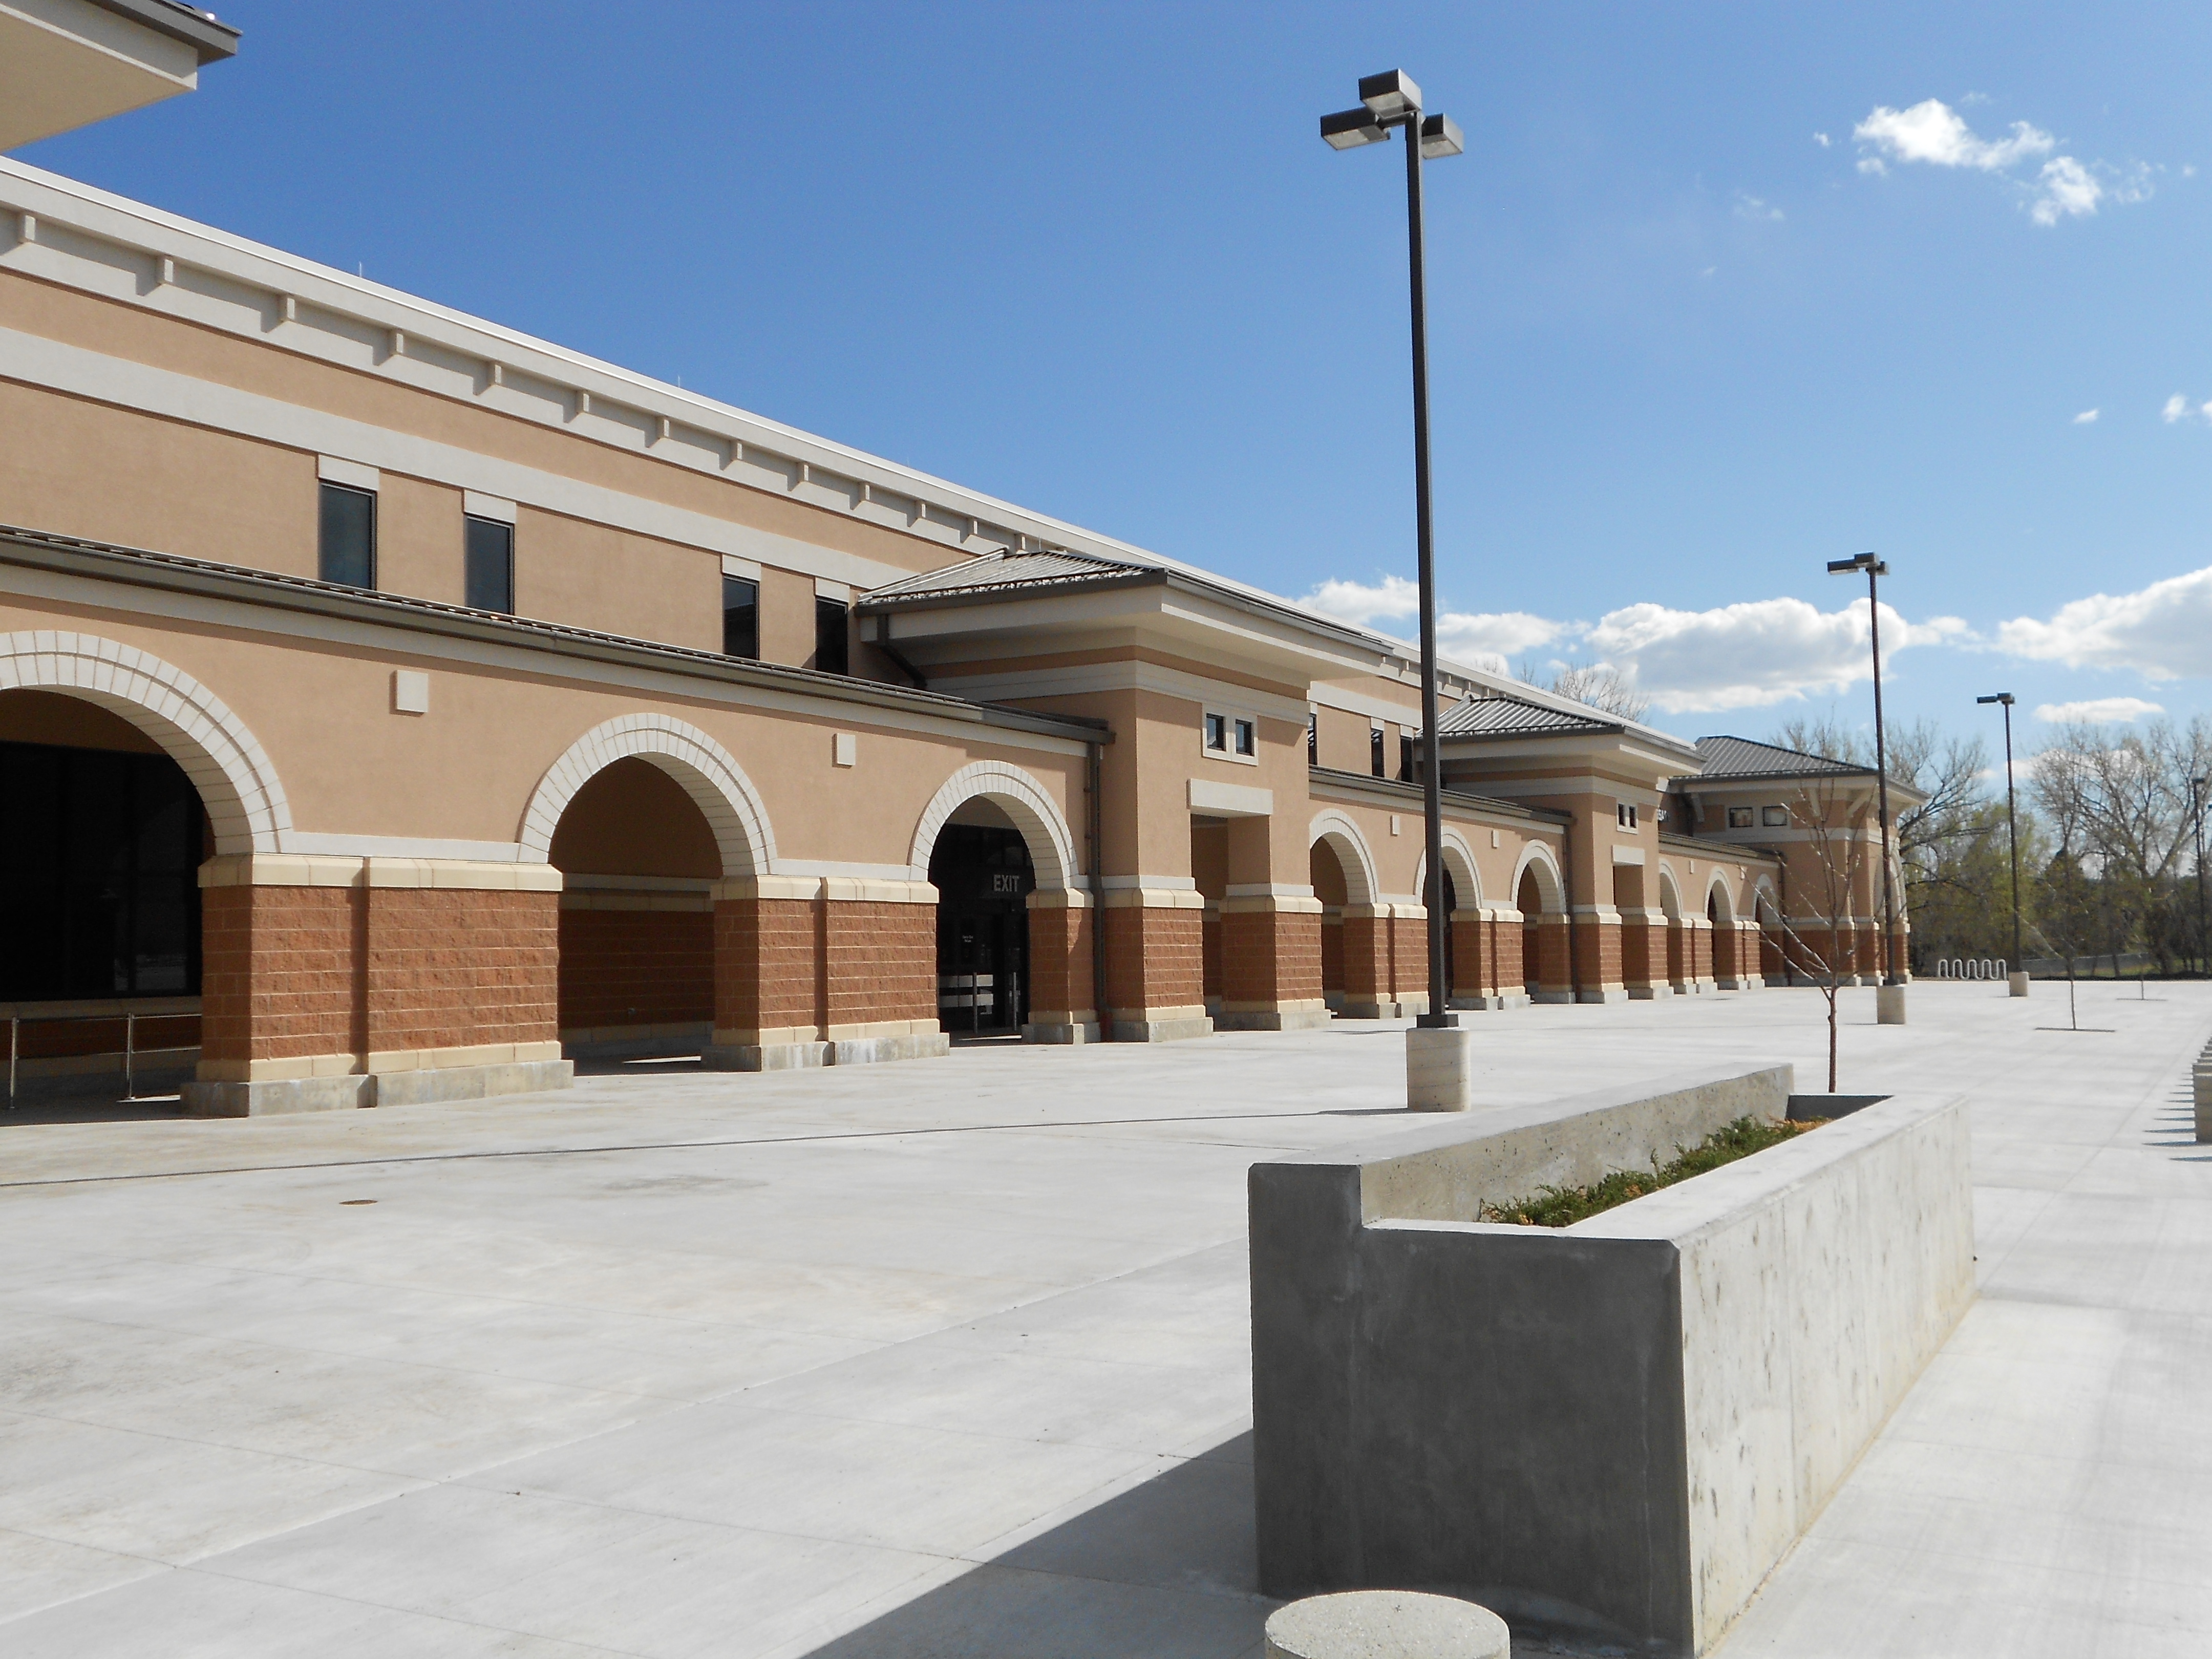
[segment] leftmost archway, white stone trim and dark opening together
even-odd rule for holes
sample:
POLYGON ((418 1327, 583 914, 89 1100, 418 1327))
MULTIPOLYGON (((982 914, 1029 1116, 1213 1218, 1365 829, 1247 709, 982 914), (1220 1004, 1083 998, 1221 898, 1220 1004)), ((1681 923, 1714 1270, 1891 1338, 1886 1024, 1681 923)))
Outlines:
POLYGON ((261 743, 142 650, 0 635, 0 1002, 42 1004, 18 1031, 18 1088, 108 1093, 126 1046, 139 1095, 188 1079, 199 865, 281 852, 292 832, 261 743))

